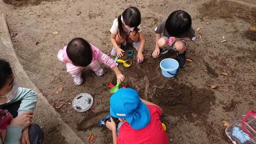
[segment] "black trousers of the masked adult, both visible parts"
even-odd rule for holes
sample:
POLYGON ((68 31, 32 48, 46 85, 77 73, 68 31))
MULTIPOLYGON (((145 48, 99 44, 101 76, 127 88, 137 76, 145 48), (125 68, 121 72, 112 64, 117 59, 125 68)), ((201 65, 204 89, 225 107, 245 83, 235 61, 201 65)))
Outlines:
MULTIPOLYGON (((1 107, 1 109, 6 109, 12 115, 13 118, 18 116, 19 102, 11 103, 10 105, 6 105, 1 107)), ((29 141, 30 144, 42 144, 44 140, 44 132, 37 124, 31 124, 29 126, 29 141)))

